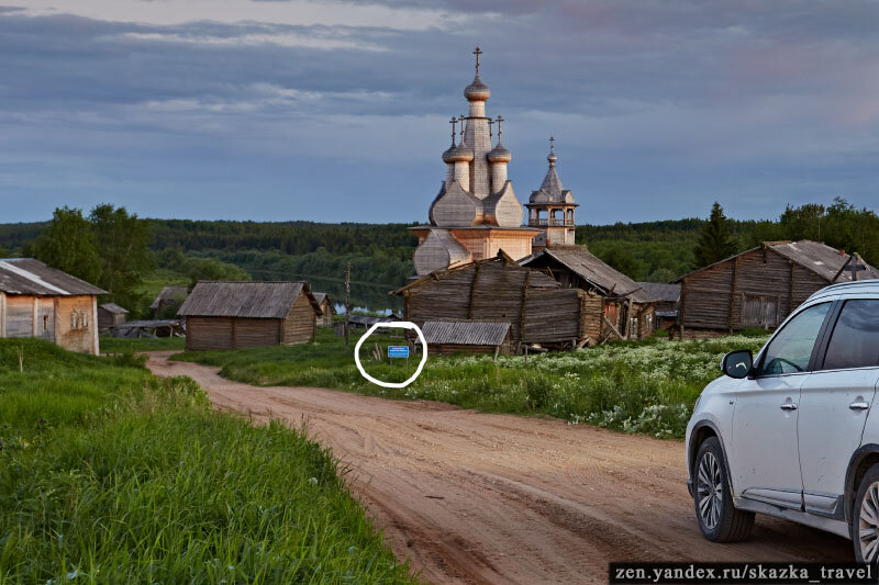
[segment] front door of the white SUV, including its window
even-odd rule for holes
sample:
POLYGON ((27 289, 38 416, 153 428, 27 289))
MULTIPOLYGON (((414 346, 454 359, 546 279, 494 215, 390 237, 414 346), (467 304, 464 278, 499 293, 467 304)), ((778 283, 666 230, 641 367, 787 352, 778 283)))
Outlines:
POLYGON ((742 380, 733 410, 734 487, 743 497, 800 507, 797 441, 800 386, 810 375, 816 341, 832 303, 799 312, 760 353, 755 375, 742 380))

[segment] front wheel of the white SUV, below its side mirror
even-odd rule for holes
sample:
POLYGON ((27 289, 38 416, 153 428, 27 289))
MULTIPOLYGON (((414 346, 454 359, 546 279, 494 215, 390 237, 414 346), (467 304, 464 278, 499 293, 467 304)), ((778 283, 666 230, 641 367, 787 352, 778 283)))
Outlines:
POLYGON ((754 513, 733 505, 723 449, 716 437, 705 439, 696 454, 693 499, 699 528, 708 540, 737 542, 750 535, 754 513))

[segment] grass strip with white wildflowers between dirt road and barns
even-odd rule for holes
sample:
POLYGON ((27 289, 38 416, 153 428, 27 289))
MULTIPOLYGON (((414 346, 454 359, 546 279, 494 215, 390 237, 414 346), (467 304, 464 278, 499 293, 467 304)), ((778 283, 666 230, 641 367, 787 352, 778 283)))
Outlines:
MULTIPOLYGON (((721 375, 721 357, 733 349, 759 349, 766 337, 733 336, 709 341, 648 339, 564 353, 430 357, 421 376, 405 389, 383 389, 363 379, 351 351, 332 331, 304 346, 238 351, 186 352, 173 359, 221 368, 221 374, 256 385, 321 386, 400 400, 431 400, 482 412, 545 414, 571 424, 681 438, 702 389, 721 375)), ((389 337, 377 337, 386 353, 389 337)), ((365 344, 372 346, 374 338, 365 344)), ((366 370, 400 382, 419 358, 389 364, 361 349, 366 370)))

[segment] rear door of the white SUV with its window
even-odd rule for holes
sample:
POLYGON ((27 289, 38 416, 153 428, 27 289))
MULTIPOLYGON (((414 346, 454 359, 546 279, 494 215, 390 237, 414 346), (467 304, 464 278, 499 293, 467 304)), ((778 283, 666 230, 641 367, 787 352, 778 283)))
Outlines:
POLYGON ((809 511, 842 513, 845 474, 860 447, 879 381, 879 299, 841 303, 814 372, 800 389, 800 469, 809 511))

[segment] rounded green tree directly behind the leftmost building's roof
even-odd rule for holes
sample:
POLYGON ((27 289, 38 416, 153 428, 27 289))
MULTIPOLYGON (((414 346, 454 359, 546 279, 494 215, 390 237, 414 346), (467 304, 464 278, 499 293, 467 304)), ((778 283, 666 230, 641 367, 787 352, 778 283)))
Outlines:
POLYGON ((101 278, 101 258, 94 246, 94 233, 88 220, 82 217, 82 210, 56 209, 52 222, 36 238, 31 251, 48 266, 86 282, 97 283, 101 278))

